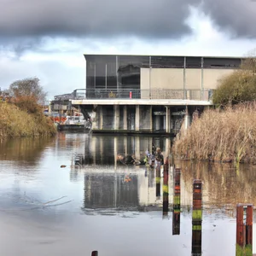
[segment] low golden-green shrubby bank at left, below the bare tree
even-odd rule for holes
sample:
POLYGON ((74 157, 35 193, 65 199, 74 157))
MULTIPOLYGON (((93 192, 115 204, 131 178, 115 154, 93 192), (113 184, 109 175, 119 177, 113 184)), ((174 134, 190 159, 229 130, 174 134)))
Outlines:
POLYGON ((56 133, 53 122, 42 112, 27 113, 15 104, 0 102, 0 138, 43 137, 56 133))

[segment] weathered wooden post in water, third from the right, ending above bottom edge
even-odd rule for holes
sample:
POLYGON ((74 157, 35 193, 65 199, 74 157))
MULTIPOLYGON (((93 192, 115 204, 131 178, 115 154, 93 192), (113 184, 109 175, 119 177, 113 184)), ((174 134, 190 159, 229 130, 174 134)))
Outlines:
POLYGON ((180 168, 173 170, 172 235, 180 234, 180 168))

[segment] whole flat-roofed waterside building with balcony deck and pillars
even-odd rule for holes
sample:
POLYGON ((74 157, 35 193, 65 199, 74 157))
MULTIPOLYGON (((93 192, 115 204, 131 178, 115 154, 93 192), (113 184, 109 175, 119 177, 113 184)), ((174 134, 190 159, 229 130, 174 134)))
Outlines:
POLYGON ((218 80, 241 58, 84 55, 86 85, 72 105, 92 120, 93 132, 177 134, 193 113, 212 105, 218 80))

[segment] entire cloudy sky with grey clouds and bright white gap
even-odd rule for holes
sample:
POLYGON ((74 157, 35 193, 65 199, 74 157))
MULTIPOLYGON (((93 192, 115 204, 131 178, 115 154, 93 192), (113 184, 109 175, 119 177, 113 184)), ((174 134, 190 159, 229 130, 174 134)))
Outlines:
POLYGON ((37 76, 49 98, 85 86, 84 53, 244 56, 256 0, 0 0, 0 87, 37 76))

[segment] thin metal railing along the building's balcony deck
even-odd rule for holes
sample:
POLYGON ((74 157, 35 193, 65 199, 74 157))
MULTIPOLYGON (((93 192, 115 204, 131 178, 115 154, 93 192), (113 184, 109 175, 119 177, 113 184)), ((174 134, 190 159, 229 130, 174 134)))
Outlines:
POLYGON ((210 101, 212 90, 172 90, 172 89, 77 89, 74 100, 82 99, 172 99, 210 101))

